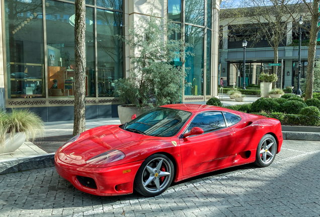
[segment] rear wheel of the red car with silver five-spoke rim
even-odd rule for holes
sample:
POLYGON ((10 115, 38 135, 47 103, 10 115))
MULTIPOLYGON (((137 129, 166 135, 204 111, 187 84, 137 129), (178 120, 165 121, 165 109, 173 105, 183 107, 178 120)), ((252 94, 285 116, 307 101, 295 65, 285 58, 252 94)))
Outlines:
POLYGON ((257 147, 255 164, 260 167, 267 167, 274 161, 277 153, 276 139, 270 134, 262 137, 257 147))

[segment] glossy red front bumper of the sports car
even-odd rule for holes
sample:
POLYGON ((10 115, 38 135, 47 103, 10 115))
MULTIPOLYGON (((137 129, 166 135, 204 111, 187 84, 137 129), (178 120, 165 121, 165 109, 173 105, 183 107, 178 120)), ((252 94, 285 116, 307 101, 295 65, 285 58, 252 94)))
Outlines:
POLYGON ((60 176, 70 181, 78 190, 100 196, 132 193, 134 177, 142 162, 137 161, 105 168, 87 168, 66 164, 57 157, 57 154, 54 156, 55 168, 60 176), (128 170, 131 171, 127 172, 128 170), (84 180, 78 179, 77 176, 94 179, 97 187, 89 187, 92 186, 92 183, 86 187, 83 185, 84 180))

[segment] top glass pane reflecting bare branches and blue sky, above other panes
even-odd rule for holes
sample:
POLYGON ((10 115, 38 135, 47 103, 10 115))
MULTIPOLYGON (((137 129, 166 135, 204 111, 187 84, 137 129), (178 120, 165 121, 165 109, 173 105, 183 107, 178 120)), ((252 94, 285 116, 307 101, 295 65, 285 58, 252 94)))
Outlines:
POLYGON ((186 23, 204 26, 204 0, 186 0, 186 23))

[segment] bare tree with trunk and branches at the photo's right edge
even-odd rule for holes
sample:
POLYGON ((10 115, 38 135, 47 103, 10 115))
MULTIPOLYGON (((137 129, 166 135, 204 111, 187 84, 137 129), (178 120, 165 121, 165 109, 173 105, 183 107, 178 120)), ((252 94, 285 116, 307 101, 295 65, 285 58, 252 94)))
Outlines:
MULTIPOLYGON (((283 4, 283 0, 280 0, 279 2, 283 4)), ((302 26, 302 28, 307 29, 310 33, 305 99, 312 98, 316 40, 317 40, 318 32, 320 30, 320 26, 318 26, 318 19, 320 17, 319 2, 320 0, 314 0, 314 1, 298 0, 298 3, 301 3, 301 5, 303 5, 307 10, 307 12, 309 13, 309 16, 304 17, 304 20, 311 20, 310 28, 306 28, 305 26, 302 26)), ((288 7, 286 7, 286 9, 290 14, 290 16, 293 18, 295 11, 291 10, 288 7)), ((299 23, 297 22, 295 23, 299 25, 299 23)))

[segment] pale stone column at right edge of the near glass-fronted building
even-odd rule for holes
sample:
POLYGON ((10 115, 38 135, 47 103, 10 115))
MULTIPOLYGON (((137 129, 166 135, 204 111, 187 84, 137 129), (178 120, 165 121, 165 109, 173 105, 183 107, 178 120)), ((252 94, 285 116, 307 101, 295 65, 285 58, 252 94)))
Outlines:
POLYGON ((218 65, 219 65, 219 12, 220 12, 220 1, 212 1, 212 13, 213 13, 213 24, 212 24, 212 71, 211 71, 211 95, 218 95, 218 65))

